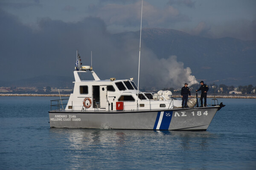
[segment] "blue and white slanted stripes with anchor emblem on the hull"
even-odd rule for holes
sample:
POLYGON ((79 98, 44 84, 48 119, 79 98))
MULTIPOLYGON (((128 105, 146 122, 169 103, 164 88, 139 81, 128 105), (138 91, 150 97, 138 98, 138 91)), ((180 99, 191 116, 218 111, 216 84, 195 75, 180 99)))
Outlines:
POLYGON ((172 111, 162 111, 157 113, 154 130, 168 130, 172 120, 172 111))

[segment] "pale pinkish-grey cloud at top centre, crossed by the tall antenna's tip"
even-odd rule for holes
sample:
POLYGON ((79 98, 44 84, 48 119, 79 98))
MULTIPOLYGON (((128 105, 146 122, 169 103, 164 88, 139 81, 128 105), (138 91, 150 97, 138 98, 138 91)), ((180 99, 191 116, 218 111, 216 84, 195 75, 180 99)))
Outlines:
MULTIPOLYGON (((129 28, 129 31, 131 31, 132 28, 132 31, 139 29, 141 1, 128 4, 90 4, 88 8, 93 16, 102 18, 108 27, 123 28, 122 31, 124 31, 125 28, 129 28)), ((175 23, 188 20, 188 16, 180 14, 180 11, 173 6, 166 6, 161 9, 146 1, 143 2, 143 27, 169 27, 175 23)))

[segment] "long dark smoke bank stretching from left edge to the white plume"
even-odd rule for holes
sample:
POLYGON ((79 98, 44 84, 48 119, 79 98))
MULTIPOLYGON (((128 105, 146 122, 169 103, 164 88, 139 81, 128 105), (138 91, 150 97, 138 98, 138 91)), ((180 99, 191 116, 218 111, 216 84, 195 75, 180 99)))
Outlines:
MULTIPOLYGON (((2 80, 23 79, 40 75, 72 77, 76 50, 83 65, 90 65, 100 79, 129 79, 137 81, 139 36, 110 34, 99 17, 86 17, 76 23, 43 18, 39 30, 24 26, 13 15, 0 11, 0 72, 2 80), (118 36, 117 36, 118 37, 118 36)), ((183 68, 177 57, 158 59, 142 45, 140 85, 179 87, 193 84, 190 68, 183 68)))

